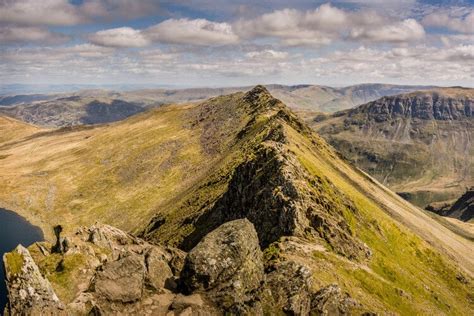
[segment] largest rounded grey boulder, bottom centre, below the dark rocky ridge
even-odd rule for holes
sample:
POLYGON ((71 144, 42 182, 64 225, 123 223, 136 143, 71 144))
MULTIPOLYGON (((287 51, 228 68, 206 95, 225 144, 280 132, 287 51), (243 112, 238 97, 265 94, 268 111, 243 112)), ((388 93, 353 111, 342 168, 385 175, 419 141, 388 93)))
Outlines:
POLYGON ((185 292, 206 292, 224 310, 240 311, 264 279, 263 254, 250 221, 227 222, 187 255, 181 281, 185 292))

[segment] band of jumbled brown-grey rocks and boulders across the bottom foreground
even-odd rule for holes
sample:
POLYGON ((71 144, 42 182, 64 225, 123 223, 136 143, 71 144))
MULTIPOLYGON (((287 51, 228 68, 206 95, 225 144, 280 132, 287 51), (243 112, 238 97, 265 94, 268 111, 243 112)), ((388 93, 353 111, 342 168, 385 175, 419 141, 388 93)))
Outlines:
POLYGON ((5 255, 7 314, 309 315, 352 306, 339 288, 317 292, 311 267, 294 255, 299 239, 278 244, 288 257, 264 256, 247 219, 224 223, 188 254, 108 225, 68 238, 65 253, 34 244, 5 255))

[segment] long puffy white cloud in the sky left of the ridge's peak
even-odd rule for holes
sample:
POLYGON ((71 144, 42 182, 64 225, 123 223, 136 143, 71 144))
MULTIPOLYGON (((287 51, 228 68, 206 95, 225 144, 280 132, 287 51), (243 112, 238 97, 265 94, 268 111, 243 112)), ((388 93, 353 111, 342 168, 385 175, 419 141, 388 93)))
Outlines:
POLYGON ((228 23, 205 19, 169 19, 144 31, 153 41, 174 44, 225 45, 239 38, 228 23))

